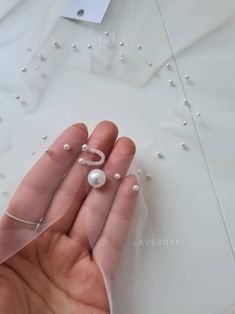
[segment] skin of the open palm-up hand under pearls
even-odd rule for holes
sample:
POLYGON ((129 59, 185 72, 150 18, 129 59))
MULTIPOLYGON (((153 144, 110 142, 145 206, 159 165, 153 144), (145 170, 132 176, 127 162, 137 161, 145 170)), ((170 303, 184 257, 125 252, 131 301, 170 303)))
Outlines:
MULTIPOLYGON (((39 210, 44 204, 48 208, 44 219, 52 221, 61 208, 65 210, 48 229, 0 265, 2 314, 110 313, 100 265, 111 286, 138 198, 132 190, 137 178, 126 176, 135 145, 131 139, 117 136, 117 127, 109 121, 99 123, 89 138, 84 124, 73 125, 22 181, 8 212, 38 221, 37 210, 30 209, 40 204, 39 210), (82 171, 90 168, 76 162, 81 156, 91 158, 81 152, 87 142, 106 155, 108 182, 100 189, 89 188, 82 171), (63 143, 79 150, 65 152, 63 143), (117 172, 122 175, 119 181, 113 179, 117 172), (63 173, 67 173, 64 178, 63 173)), ((1 223, 22 227, 8 216, 1 223)))

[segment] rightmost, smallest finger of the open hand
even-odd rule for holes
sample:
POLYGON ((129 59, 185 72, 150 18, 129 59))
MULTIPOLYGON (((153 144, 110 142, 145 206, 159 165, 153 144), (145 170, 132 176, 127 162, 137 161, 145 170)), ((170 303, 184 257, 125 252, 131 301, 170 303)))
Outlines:
POLYGON ((109 283, 113 281, 128 237, 138 198, 133 186, 137 184, 135 176, 128 176, 122 182, 106 225, 93 250, 93 257, 103 269, 109 283))

